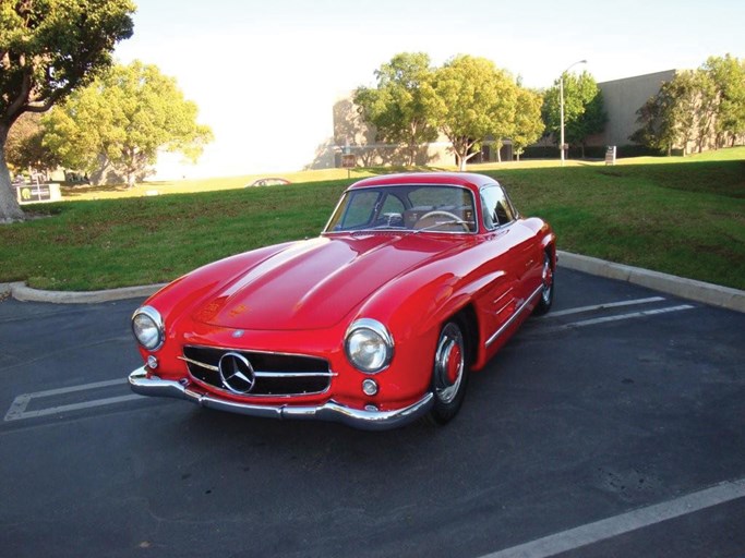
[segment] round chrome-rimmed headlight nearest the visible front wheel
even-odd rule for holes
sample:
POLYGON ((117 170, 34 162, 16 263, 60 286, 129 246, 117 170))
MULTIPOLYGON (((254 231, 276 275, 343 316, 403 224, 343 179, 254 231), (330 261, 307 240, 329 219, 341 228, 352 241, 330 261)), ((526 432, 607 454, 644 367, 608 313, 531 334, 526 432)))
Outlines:
POLYGON ((393 357, 393 339, 388 330, 374 319, 358 319, 347 330, 347 357, 356 368, 376 374, 385 369, 393 357))

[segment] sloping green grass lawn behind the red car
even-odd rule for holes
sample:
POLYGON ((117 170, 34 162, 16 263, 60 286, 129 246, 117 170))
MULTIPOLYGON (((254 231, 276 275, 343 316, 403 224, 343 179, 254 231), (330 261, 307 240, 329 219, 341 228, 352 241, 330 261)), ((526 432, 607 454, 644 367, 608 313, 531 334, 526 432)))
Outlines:
MULTIPOLYGON (((524 215, 548 219, 560 250, 745 289, 745 147, 614 167, 469 170, 497 178, 524 215)), ((131 193, 76 189, 79 201, 36 205, 27 210, 39 218, 0 227, 0 282, 96 290, 168 281, 230 254, 316 235, 345 187, 372 172, 356 170, 351 181, 324 180, 346 177, 341 170, 297 174, 291 185, 254 189, 242 187, 245 178, 191 181, 181 187, 192 193, 117 199, 84 198, 131 193)), ((163 194, 179 183, 139 187, 163 194)))

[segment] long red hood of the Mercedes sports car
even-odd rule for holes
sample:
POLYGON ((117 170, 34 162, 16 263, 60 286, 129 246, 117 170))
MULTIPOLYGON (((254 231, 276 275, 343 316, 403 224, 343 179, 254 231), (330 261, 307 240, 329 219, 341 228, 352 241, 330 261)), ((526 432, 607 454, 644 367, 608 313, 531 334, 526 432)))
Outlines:
POLYGON ((233 277, 192 317, 236 329, 321 329, 382 286, 458 250, 431 235, 319 238, 285 245, 233 277))

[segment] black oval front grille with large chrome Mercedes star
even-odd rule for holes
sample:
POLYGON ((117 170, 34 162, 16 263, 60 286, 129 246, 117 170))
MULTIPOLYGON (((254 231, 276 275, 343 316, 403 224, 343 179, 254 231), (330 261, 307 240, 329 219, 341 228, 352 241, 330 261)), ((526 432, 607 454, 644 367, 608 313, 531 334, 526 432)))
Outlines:
MULTIPOLYGON (((331 386, 334 375, 328 362, 314 356, 298 354, 262 353, 187 345, 183 356, 189 373, 205 384, 236 395, 225 385, 219 372, 223 355, 237 353, 245 357, 253 368, 255 381, 248 397, 291 397, 322 393, 331 386)), ((239 393, 241 395, 241 393, 239 393)))

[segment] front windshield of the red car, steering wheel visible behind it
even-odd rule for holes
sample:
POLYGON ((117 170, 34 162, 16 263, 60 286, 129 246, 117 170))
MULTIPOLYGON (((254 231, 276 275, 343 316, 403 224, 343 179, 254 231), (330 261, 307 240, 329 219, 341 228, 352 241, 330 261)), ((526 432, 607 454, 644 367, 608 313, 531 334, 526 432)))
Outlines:
POLYGON ((377 186, 345 193, 324 232, 476 232, 473 195, 445 185, 377 186))

